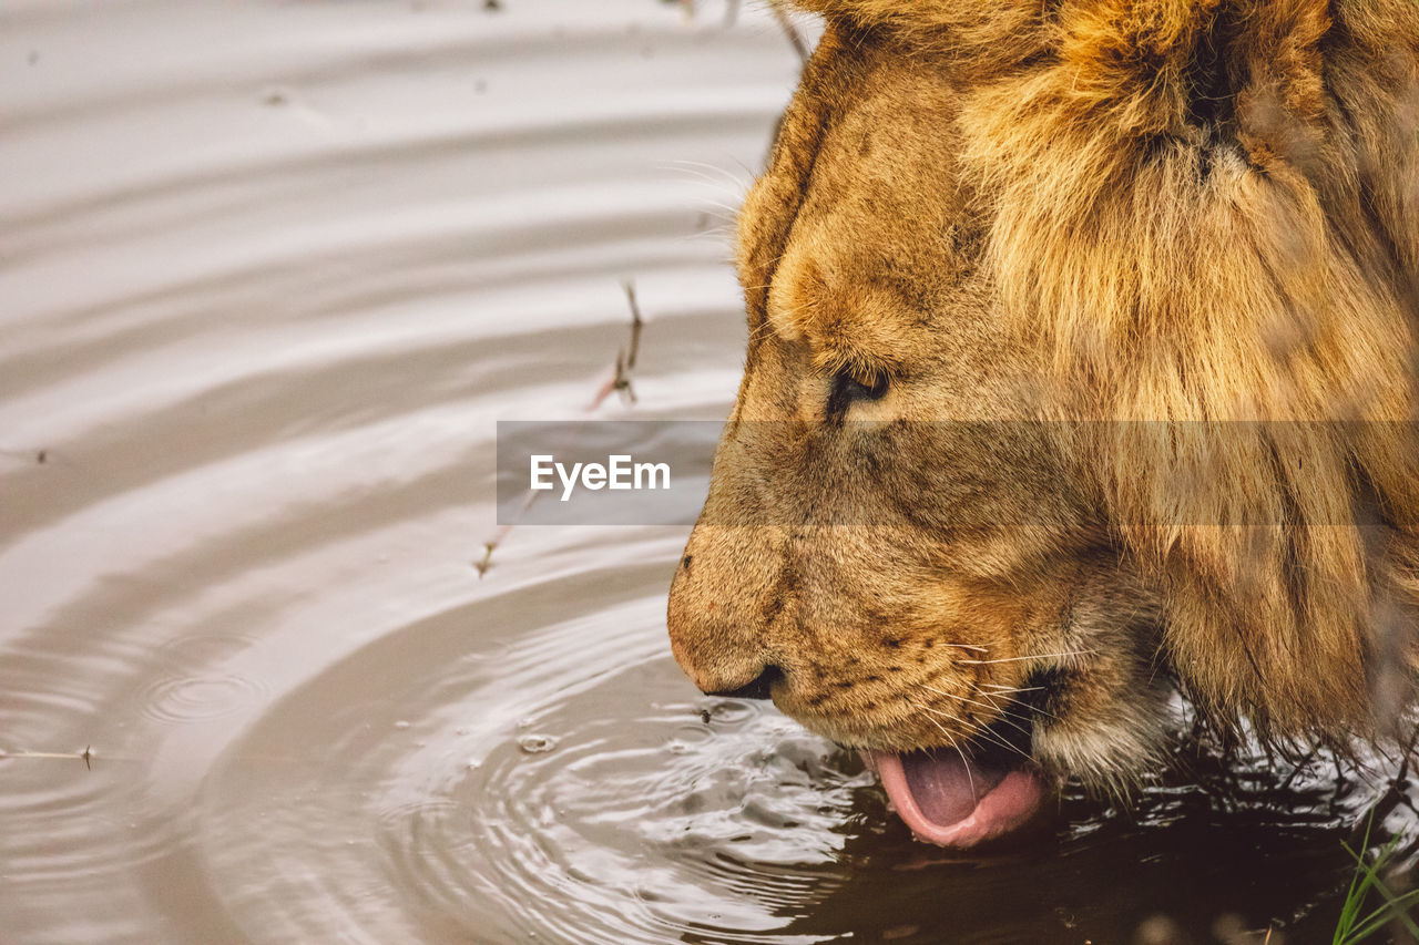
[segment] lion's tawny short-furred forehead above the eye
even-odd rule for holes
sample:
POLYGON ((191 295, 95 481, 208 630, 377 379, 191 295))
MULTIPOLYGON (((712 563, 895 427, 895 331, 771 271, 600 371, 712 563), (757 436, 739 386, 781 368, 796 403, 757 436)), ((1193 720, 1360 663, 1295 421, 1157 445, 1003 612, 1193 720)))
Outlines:
POLYGON ((763 280, 751 322, 807 341, 819 366, 893 372, 951 348, 983 224, 949 81, 885 55, 846 72, 800 89, 789 121, 815 115, 816 133, 786 135, 746 200, 741 270, 746 289, 763 280))

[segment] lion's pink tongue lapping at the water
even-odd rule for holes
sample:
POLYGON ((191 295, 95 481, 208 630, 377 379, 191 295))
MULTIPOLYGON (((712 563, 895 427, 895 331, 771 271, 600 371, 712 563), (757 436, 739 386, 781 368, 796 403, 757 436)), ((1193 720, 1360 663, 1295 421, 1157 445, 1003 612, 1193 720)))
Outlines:
POLYGON ((965 850, 1026 833, 1049 790, 1034 770, 993 753, 968 762, 951 749, 863 752, 917 839, 965 850))

